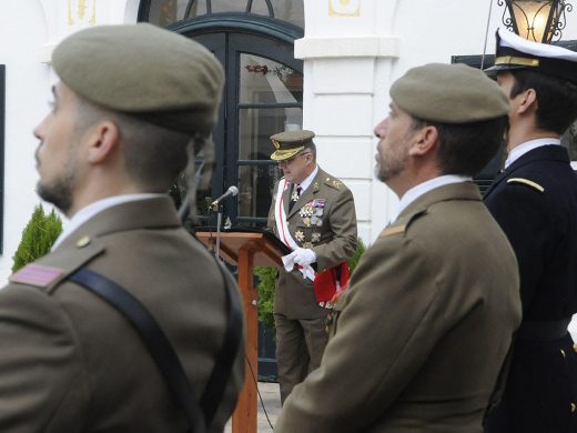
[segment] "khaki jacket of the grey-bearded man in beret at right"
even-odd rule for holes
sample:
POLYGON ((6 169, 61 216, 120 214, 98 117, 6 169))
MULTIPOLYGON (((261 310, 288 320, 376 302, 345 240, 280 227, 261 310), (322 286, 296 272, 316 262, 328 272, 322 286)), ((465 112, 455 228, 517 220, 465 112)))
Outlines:
POLYGON ((286 432, 482 432, 520 321, 517 262, 473 183, 418 198, 364 253, 286 432))

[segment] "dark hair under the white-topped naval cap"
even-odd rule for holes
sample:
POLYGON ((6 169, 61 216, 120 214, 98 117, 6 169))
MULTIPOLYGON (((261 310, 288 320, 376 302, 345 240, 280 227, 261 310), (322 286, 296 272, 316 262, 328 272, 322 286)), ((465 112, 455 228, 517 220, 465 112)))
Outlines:
POLYGON ((513 70, 509 97, 534 89, 537 94, 537 128, 561 135, 577 119, 577 85, 543 73, 513 70))

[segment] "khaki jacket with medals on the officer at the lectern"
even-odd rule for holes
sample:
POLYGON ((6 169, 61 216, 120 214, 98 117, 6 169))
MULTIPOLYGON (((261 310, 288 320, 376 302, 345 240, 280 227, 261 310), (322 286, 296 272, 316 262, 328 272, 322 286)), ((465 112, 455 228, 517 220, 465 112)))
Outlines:
MULTIPOLYGON (((269 228, 280 236, 274 215, 277 187, 274 187, 269 228)), ((316 253, 317 271, 334 266, 354 254, 357 243, 355 203, 351 190, 343 182, 318 169, 291 211, 290 202, 291 188, 287 188, 283 204, 288 231, 300 246, 316 253)), ((325 314, 318 306, 312 281, 303 279, 300 271, 286 272, 284 268, 279 270, 274 311, 288 319, 313 319, 325 314)))

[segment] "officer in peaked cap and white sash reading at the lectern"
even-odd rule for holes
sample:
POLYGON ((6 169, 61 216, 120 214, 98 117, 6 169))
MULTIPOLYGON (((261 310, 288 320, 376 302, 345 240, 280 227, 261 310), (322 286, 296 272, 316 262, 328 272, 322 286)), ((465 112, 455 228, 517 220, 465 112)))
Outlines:
POLYGON ((293 250, 279 271, 274 299, 282 402, 318 366, 328 340, 330 305, 315 292, 315 273, 345 262, 357 243, 353 194, 316 164, 313 138, 312 131, 271 137, 271 159, 284 178, 274 187, 269 228, 293 250))

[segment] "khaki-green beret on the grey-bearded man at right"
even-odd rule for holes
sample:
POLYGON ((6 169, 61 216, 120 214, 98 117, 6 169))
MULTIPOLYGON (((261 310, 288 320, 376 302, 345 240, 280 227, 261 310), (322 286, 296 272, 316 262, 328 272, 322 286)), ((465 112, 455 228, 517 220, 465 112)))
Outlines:
POLYGON ((465 64, 429 63, 409 69, 391 87, 397 107, 414 118, 439 123, 470 123, 509 112, 498 84, 465 64))

